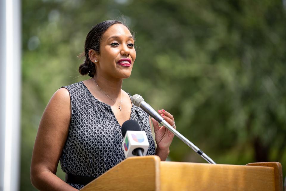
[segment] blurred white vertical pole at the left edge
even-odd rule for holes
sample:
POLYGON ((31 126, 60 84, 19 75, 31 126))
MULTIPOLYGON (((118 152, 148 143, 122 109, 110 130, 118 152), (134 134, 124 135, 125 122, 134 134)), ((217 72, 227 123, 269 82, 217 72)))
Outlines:
POLYGON ((0 7, 0 190, 15 191, 19 189, 20 170, 21 3, 6 0, 0 7))

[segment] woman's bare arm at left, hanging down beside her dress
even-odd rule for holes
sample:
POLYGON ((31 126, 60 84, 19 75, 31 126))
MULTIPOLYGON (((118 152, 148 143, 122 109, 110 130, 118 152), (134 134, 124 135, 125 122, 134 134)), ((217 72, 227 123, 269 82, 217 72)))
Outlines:
POLYGON ((30 177, 38 190, 77 190, 55 175, 70 120, 69 92, 61 88, 52 96, 43 113, 34 145, 30 177))

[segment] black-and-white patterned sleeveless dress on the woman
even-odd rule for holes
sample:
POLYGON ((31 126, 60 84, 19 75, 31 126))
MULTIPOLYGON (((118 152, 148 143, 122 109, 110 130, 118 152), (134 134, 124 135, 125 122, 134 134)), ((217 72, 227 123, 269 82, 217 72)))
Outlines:
MULTIPOLYGON (((69 91, 71 98, 71 124, 60 157, 61 169, 73 175, 98 177, 125 159, 121 126, 111 106, 97 100, 82 81, 62 88, 69 91)), ((130 119, 137 121, 147 134, 147 155, 155 155, 149 115, 132 104, 130 119)))

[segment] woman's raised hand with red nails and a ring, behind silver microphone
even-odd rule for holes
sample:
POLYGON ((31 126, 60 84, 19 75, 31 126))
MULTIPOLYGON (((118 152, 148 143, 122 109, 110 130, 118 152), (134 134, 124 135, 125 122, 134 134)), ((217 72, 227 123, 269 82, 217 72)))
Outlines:
MULTIPOLYGON (((174 125, 174 117, 169 112, 165 110, 158 110, 158 113, 170 124, 173 125, 174 129, 176 126, 174 125)), ((160 156, 161 160, 166 160, 169 154, 169 147, 174 138, 174 134, 170 132, 165 126, 159 126, 159 123, 152 118, 154 133, 155 133, 155 141, 157 143, 156 154, 160 156)))

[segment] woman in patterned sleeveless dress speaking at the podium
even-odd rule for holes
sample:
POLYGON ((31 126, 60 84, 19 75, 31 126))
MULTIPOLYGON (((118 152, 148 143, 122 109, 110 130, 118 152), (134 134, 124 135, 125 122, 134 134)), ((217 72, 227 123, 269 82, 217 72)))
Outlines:
MULTIPOLYGON (((134 39, 119 21, 104 21, 86 37, 85 62, 79 67, 91 79, 60 88, 49 101, 37 133, 31 163, 31 182, 39 190, 77 190, 125 159, 121 125, 133 119, 147 134, 147 155, 166 160, 174 134, 159 127, 131 103, 121 89, 136 58, 134 39), (55 174, 57 164, 66 182, 55 174), (76 181, 75 181, 76 180, 76 181)), ((158 110, 175 127, 173 116, 158 110)))

